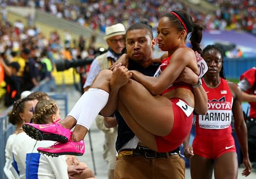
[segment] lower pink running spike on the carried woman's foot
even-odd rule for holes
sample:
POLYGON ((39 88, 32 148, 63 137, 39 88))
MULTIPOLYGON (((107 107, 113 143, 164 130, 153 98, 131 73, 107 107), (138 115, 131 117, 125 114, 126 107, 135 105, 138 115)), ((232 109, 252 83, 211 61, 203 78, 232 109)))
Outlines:
POLYGON ((58 157, 61 155, 72 155, 72 156, 82 156, 86 146, 84 141, 74 142, 69 140, 67 143, 57 142, 50 147, 38 147, 37 151, 41 154, 46 154, 52 157, 58 157))

